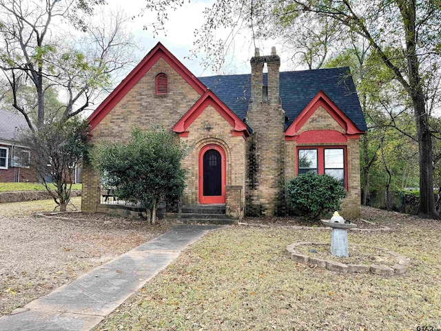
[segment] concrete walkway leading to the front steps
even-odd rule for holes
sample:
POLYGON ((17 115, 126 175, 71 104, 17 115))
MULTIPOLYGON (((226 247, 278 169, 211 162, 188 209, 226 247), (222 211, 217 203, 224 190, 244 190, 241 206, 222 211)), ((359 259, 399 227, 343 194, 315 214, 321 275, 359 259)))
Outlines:
POLYGON ((218 225, 178 225, 76 281, 0 318, 1 331, 90 330, 218 225))

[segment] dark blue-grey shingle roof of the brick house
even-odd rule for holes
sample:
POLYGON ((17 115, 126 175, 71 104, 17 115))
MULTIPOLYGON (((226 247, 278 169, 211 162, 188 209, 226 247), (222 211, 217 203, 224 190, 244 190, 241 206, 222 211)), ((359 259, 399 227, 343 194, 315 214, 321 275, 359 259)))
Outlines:
MULTIPOLYGON (((251 90, 250 74, 200 77, 202 83, 212 90, 240 119, 245 118, 251 90)), ((263 74, 267 85, 267 74, 263 74)), ((331 68, 280 72, 280 98, 289 123, 322 90, 353 121, 359 130, 366 131, 360 102, 350 76, 349 68, 331 68)))

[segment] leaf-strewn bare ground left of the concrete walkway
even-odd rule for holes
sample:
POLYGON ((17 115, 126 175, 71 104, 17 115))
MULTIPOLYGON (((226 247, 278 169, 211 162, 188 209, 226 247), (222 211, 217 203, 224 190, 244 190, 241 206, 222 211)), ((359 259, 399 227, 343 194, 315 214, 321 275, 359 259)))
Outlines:
POLYGON ((0 204, 0 316, 170 228, 106 214, 10 216, 26 208, 34 207, 0 204))

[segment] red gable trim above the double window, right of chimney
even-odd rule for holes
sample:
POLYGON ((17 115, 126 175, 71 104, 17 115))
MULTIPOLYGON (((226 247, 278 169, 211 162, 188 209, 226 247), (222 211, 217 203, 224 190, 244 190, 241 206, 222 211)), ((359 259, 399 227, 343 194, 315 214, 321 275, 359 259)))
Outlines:
POLYGON ((331 99, 320 90, 316 96, 309 101, 308 105, 305 107, 304 110, 298 115, 296 120, 291 123, 291 126, 287 128, 285 131, 285 137, 294 137, 297 135, 298 130, 302 128, 302 126, 307 122, 309 117, 311 117, 312 114, 317 110, 318 107, 322 106, 325 108, 325 110, 337 121, 338 124, 342 128, 345 129, 347 134, 362 134, 364 131, 358 130, 357 126, 349 119, 349 117, 346 116, 344 112, 340 110, 336 106, 334 102, 332 102, 331 99))

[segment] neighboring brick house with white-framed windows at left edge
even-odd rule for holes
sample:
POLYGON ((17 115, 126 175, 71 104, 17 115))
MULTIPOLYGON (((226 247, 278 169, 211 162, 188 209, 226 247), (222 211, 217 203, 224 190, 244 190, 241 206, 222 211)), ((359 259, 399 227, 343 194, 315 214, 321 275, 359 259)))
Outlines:
POLYGON ((0 110, 0 182, 37 181, 31 152, 19 141, 19 133, 27 128, 20 114, 0 110))

